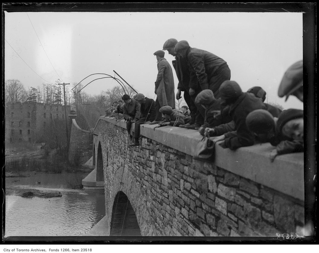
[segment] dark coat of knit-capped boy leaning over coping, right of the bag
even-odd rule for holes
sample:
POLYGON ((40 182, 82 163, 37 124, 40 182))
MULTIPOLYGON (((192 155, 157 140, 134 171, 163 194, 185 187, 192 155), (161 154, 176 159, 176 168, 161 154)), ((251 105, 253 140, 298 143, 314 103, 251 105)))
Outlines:
POLYGON ((246 92, 243 92, 233 104, 230 104, 229 115, 234 120, 235 131, 225 134, 225 147, 235 150, 254 144, 255 136, 246 126, 246 117, 256 109, 266 109, 266 106, 255 95, 246 92))

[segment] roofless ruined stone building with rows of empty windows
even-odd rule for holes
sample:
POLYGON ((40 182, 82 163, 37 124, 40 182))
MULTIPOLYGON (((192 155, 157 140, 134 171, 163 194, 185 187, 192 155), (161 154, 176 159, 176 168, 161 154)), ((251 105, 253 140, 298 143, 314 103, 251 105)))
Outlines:
MULTIPOLYGON (((70 105, 67 105, 70 113, 70 105)), ((52 118, 64 119, 64 105, 48 105, 36 102, 11 103, 5 105, 5 142, 35 142, 52 118)))

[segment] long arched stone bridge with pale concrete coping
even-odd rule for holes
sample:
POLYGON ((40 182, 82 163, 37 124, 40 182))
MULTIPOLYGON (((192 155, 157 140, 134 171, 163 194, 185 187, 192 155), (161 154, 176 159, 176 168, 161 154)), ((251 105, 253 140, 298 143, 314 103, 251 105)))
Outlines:
POLYGON ((128 147, 125 127, 100 117, 89 133, 106 215, 88 235, 303 234, 303 153, 271 163, 270 144, 236 151, 217 145, 215 161, 202 162, 193 158, 197 131, 141 125, 141 145, 128 147))

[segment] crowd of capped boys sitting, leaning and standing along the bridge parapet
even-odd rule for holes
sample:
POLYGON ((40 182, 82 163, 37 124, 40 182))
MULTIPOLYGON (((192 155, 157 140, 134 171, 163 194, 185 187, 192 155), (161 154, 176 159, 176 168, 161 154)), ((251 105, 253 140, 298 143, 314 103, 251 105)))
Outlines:
MULTIPOLYGON (((190 47, 186 40, 168 39, 163 50, 154 53, 158 63, 156 101, 141 93, 134 97, 125 94, 122 101, 107 109, 106 116, 124 118, 130 146, 139 145, 141 124, 157 124, 155 128, 171 125, 198 130, 231 150, 270 142, 274 146, 269 154, 271 161, 277 155, 303 151, 303 110, 281 111, 264 103, 266 92, 261 87, 243 92, 237 82, 230 80, 231 71, 225 60, 190 47), (176 96, 172 67, 163 50, 175 57, 172 65, 178 78, 176 96), (187 106, 179 111, 175 109, 175 97, 180 99, 182 92, 187 106)), ((278 96, 285 95, 286 100, 294 95, 303 102, 302 61, 294 63, 284 74, 278 96)))

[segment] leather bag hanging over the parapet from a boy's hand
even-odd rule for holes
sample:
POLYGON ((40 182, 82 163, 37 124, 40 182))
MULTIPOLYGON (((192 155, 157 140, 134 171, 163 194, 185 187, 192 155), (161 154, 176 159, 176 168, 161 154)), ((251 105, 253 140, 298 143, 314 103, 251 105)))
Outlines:
POLYGON ((213 161, 215 158, 215 143, 211 140, 208 133, 197 144, 194 159, 201 161, 213 161))

